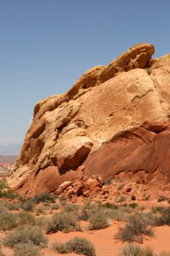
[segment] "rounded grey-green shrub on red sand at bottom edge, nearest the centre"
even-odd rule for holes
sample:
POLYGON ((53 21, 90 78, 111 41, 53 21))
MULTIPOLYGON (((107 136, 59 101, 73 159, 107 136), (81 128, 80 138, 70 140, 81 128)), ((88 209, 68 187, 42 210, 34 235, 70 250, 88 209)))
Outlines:
POLYGON ((76 236, 67 243, 65 243, 69 251, 87 256, 95 256, 95 248, 93 244, 87 239, 76 236))

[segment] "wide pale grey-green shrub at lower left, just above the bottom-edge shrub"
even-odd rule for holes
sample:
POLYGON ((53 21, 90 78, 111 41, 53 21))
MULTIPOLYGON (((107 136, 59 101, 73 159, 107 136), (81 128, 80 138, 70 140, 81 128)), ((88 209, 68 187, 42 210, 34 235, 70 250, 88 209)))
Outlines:
POLYGON ((46 247, 47 238, 42 234, 39 226, 18 226, 5 236, 3 243, 8 247, 14 247, 18 243, 32 243, 39 247, 46 247))

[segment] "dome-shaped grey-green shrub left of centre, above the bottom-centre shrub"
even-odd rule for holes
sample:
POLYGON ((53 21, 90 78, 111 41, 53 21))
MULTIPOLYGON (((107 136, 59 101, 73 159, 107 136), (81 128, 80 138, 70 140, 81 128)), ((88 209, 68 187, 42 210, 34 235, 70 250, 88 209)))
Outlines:
POLYGON ((46 225, 47 233, 55 233, 58 231, 71 232, 71 231, 81 231, 79 222, 74 213, 62 212, 54 214, 50 220, 48 220, 46 225))

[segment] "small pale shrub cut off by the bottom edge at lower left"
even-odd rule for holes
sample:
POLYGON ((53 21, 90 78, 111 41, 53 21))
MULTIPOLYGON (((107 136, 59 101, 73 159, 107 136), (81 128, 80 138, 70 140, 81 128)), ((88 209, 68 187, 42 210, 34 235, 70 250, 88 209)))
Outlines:
POLYGON ((13 250, 14 256, 40 256, 38 247, 32 243, 17 243, 13 250))

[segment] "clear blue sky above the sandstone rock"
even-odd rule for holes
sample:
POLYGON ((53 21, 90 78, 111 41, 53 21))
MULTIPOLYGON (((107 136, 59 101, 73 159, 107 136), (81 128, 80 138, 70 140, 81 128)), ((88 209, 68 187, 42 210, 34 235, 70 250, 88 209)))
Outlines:
POLYGON ((170 53, 170 1, 1 0, 0 146, 24 139, 34 105, 138 42, 170 53))

